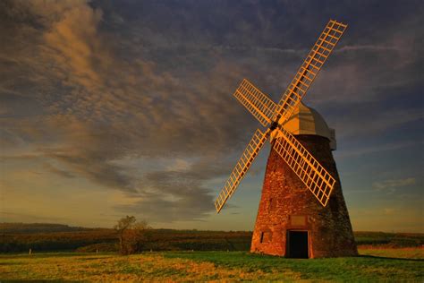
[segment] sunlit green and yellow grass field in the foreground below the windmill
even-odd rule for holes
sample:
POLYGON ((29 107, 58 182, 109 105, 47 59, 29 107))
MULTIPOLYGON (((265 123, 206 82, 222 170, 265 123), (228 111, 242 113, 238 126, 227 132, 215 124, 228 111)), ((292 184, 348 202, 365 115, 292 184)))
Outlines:
POLYGON ((424 279, 423 249, 366 249, 360 257, 294 260, 245 252, 0 255, 0 280, 408 281, 424 279))

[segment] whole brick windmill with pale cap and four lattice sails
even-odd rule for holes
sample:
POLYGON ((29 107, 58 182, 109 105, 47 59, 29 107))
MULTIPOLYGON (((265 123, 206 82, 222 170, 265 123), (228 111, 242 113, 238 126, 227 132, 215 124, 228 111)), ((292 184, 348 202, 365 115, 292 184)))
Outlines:
POLYGON ((301 103, 346 28, 328 21, 278 104, 245 79, 233 94, 267 130, 253 134, 216 198, 217 213, 265 142, 271 143, 251 252, 304 258, 357 254, 331 153, 334 130, 301 103), (303 116, 310 116, 306 130, 303 116))

